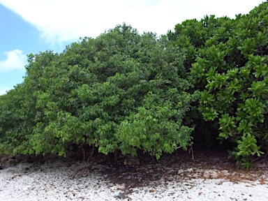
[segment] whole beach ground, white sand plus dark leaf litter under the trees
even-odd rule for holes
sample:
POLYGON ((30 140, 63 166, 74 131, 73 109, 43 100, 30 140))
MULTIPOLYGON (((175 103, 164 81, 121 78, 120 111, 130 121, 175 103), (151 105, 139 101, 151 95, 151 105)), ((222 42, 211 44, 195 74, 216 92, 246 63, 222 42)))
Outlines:
POLYGON ((140 165, 100 163, 73 179, 83 161, 18 163, 0 170, 0 200, 268 200, 267 161, 245 171, 206 154, 194 161, 180 154, 148 158, 140 165))

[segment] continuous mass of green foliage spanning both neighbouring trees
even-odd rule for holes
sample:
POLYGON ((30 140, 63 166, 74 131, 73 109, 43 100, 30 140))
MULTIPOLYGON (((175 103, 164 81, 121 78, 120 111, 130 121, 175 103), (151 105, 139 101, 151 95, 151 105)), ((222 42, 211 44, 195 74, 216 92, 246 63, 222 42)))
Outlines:
POLYGON ((250 168, 268 149, 267 32, 262 3, 234 20, 186 20, 159 38, 123 24, 61 54, 30 54, 24 82, 0 96, 0 152, 66 155, 87 143, 159 158, 191 146, 193 122, 211 121, 250 168))

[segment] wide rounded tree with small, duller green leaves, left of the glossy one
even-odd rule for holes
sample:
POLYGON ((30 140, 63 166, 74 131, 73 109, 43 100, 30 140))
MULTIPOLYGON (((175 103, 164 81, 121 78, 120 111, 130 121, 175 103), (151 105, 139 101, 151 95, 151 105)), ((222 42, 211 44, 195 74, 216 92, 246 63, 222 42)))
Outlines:
POLYGON ((65 155, 70 143, 103 154, 163 152, 191 145, 185 120, 196 93, 184 54, 166 36, 117 26, 61 54, 29 55, 24 83, 1 96, 1 150, 65 155), (8 126, 7 126, 8 125, 8 126))

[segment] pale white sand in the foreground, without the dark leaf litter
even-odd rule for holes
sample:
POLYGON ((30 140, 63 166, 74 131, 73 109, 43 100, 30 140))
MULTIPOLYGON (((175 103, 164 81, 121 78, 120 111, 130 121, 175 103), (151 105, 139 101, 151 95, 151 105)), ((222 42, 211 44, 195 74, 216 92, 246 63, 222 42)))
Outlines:
MULTIPOLYGON (((193 176, 207 170, 176 170, 177 174, 170 174, 168 181, 163 177, 135 188, 105 179, 107 175, 100 172, 107 168, 104 165, 96 165, 93 171, 80 172, 70 179, 70 174, 82 165, 82 162, 47 161, 42 165, 20 163, 0 170, 0 200, 268 200, 268 182, 262 181, 268 172, 260 180, 235 184, 224 178, 208 179, 209 176, 181 178, 185 172, 193 176)), ((146 174, 141 174, 140 179, 146 181, 146 174)))

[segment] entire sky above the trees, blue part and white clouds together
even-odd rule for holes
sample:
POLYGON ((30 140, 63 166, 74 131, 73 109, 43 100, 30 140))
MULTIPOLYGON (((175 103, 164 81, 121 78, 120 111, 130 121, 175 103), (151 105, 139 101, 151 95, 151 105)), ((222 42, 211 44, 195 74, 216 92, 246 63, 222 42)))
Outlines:
POLYGON ((262 0, 0 0, 0 95, 23 82, 27 55, 62 52, 117 24, 160 36, 184 20, 246 14, 262 0))

